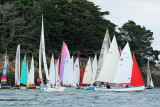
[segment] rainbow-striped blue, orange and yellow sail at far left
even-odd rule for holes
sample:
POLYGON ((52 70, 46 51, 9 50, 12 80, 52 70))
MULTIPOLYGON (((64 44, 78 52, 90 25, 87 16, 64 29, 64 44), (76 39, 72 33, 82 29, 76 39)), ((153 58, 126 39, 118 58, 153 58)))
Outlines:
POLYGON ((3 69, 3 74, 2 74, 2 78, 1 78, 1 84, 5 84, 7 85, 7 52, 6 52, 6 55, 5 55, 5 63, 4 63, 4 69, 3 69))

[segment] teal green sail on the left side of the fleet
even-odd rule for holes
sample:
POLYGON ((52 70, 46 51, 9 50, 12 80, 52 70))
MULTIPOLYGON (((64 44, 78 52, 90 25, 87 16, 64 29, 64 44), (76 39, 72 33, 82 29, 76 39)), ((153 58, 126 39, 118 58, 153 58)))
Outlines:
POLYGON ((26 55, 24 56, 23 63, 22 63, 20 83, 23 83, 23 84, 27 83, 27 62, 26 62, 26 55))

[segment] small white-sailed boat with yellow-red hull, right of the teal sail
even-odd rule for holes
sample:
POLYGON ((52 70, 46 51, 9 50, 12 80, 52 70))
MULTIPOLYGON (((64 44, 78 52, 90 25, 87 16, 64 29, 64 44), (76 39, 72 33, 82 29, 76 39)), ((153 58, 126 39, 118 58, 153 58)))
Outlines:
POLYGON ((29 85, 29 89, 36 89, 35 83, 34 83, 34 58, 32 56, 32 61, 31 61, 31 67, 30 67, 30 72, 28 72, 28 79, 27 79, 27 84, 29 85))

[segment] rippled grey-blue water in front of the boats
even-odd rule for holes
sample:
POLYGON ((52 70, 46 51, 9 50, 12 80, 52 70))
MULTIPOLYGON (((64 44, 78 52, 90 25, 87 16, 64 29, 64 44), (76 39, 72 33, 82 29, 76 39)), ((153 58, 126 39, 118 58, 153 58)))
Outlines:
POLYGON ((0 90, 0 107, 155 107, 160 106, 160 89, 141 92, 105 92, 66 89, 0 90))

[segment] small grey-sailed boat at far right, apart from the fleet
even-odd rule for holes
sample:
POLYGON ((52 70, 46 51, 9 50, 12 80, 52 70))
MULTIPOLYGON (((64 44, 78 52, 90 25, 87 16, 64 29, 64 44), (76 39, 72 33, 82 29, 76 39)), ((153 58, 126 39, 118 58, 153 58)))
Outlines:
POLYGON ((154 84, 152 81, 152 76, 151 76, 151 71, 150 71, 150 66, 149 66, 149 60, 148 60, 148 64, 147 64, 147 87, 146 89, 153 89, 154 88, 154 84))

